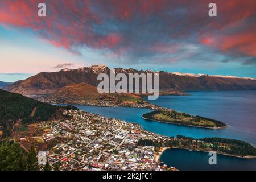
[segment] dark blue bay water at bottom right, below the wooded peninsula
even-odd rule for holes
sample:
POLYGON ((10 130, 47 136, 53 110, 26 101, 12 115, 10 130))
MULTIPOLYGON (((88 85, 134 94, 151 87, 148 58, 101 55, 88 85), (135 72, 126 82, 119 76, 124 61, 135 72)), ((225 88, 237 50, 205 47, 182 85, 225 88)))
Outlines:
POLYGON ((217 154, 216 165, 210 165, 208 152, 171 148, 163 152, 160 161, 179 170, 256 170, 255 159, 234 158, 217 154))

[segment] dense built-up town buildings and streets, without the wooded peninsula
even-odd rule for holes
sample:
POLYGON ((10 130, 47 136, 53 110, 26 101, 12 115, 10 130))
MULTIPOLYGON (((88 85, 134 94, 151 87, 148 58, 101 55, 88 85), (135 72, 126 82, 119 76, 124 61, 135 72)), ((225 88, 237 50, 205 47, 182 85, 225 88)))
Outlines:
POLYGON ((139 139, 168 141, 168 137, 81 110, 64 111, 64 115, 70 119, 36 124, 44 131, 34 137, 37 142, 56 143, 47 151, 39 151, 39 164, 47 160, 59 170, 176 170, 160 165, 154 146, 137 146, 139 139))

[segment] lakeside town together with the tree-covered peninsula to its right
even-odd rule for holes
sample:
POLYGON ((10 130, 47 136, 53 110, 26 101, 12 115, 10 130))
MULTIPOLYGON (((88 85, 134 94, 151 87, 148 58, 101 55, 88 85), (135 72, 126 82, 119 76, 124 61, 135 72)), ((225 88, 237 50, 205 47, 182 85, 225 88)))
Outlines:
POLYGON ((52 170, 81 171, 176 171, 162 163, 168 148, 216 151, 239 158, 255 158, 249 143, 235 139, 166 137, 143 130, 137 123, 105 118, 73 109, 61 110, 63 118, 31 123, 14 139, 26 151, 38 151, 38 163, 52 170), (246 146, 244 150, 242 146, 246 146))

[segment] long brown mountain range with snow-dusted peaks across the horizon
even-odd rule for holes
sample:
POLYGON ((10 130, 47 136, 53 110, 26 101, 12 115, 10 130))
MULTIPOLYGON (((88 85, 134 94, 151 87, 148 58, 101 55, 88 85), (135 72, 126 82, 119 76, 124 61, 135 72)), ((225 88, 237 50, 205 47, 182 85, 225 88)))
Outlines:
MULTIPOLYGON (((14 82, 5 90, 20 94, 50 94, 57 92, 68 84, 87 84, 97 86, 97 76, 100 73, 110 74, 106 65, 93 65, 79 69, 61 69, 59 72, 38 73, 35 76, 14 82)), ((152 73, 136 69, 115 68, 115 73, 152 73)), ((179 72, 169 73, 160 71, 159 89, 179 91, 204 90, 256 90, 254 78, 239 78, 232 76, 192 75, 179 72)))

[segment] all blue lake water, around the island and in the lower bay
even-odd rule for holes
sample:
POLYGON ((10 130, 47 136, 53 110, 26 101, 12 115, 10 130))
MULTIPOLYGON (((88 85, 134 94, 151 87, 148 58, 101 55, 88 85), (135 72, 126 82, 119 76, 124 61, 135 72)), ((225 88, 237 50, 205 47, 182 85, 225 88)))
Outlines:
MULTIPOLYGON (((151 100, 153 104, 182 111, 192 115, 201 115, 220 120, 229 127, 225 129, 202 129, 197 127, 172 125, 142 119, 149 109, 126 107, 95 107, 75 105, 79 109, 138 123, 144 130, 166 136, 186 135, 194 138, 222 137, 245 140, 256 145, 256 91, 248 92, 189 92, 191 96, 160 96, 151 100)), ((166 150, 161 159, 169 166, 179 169, 236 169, 240 165, 245 169, 255 169, 256 160, 218 155, 220 165, 208 164, 208 153, 187 150, 166 150), (185 163, 184 158, 190 162, 185 163), (253 166, 253 167, 251 167, 253 166)))

